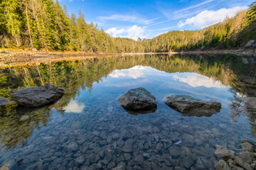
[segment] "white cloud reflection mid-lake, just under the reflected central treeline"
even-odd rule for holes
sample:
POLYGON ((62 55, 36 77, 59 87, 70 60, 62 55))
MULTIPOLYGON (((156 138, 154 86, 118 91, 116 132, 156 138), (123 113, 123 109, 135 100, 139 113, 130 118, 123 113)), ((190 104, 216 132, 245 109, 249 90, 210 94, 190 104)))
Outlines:
POLYGON ((144 66, 135 66, 130 69, 115 69, 110 77, 119 78, 119 77, 132 77, 133 79, 137 79, 139 77, 144 77, 143 69, 146 69, 144 66))

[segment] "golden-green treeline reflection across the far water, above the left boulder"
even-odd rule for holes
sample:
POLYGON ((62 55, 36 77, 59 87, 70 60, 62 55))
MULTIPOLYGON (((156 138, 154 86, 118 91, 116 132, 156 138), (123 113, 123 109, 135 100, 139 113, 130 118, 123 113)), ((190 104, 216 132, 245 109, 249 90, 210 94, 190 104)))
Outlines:
MULTIPOLYGON (((136 65, 154 67, 169 73, 197 72, 229 85, 235 77, 230 68, 230 62, 237 62, 234 61, 235 58, 237 57, 140 55, 6 67, 0 69, 0 93, 3 93, 5 86, 9 89, 18 89, 41 86, 42 83, 63 87, 71 90, 72 92, 68 92, 72 94, 80 88, 91 91, 93 82, 101 81, 102 77, 107 77, 114 69, 129 69, 136 65)), ((5 96, 8 97, 7 94, 5 96)))

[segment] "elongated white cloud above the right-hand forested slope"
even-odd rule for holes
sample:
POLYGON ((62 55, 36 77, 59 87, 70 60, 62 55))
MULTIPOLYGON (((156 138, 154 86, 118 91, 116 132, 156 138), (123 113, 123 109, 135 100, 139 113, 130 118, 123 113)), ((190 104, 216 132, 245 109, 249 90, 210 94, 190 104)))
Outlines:
POLYGON ((187 18, 186 21, 179 21, 178 27, 181 28, 186 25, 192 25, 196 28, 206 28, 223 21, 226 16, 233 17, 236 13, 246 8, 247 6, 236 6, 233 8, 221 8, 218 11, 205 10, 192 18, 187 18))

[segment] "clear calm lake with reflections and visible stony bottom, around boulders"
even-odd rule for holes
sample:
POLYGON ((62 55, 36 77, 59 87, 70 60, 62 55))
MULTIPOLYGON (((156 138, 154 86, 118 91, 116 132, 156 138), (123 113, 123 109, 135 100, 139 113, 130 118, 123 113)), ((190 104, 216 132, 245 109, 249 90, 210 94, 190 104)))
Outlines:
POLYGON ((132 55, 0 69, 0 96, 50 83, 65 89, 42 108, 0 108, 0 165, 12 169, 214 169, 215 145, 256 142, 256 59, 235 55, 132 55), (144 87, 154 113, 127 113, 117 98, 144 87), (162 101, 186 94, 222 103, 184 115, 162 101), (245 102, 247 101, 247 102, 245 102), (254 106, 254 107, 253 107, 254 106), (124 145, 127 149, 124 149, 124 145), (18 163, 18 164, 16 164, 18 163))

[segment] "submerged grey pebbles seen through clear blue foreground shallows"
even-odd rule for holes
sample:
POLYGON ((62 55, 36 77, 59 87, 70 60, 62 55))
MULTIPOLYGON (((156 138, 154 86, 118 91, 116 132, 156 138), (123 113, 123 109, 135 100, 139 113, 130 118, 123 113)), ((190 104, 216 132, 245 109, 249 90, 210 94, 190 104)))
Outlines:
POLYGON ((237 151, 242 138, 252 138, 227 123, 225 113, 183 117, 163 104, 156 113, 134 116, 118 104, 93 114, 53 112, 25 147, 3 149, 0 163, 22 159, 19 169, 214 169, 215 145, 237 151))

